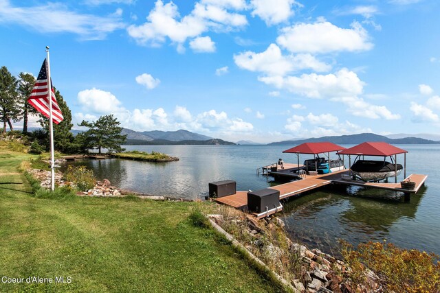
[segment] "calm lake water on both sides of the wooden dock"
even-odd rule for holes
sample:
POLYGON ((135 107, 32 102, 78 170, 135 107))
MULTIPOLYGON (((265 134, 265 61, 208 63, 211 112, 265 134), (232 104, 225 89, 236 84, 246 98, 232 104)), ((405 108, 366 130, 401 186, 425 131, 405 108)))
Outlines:
MULTIPOLYGON (((440 145, 398 146, 409 151, 407 175, 428 175, 426 187, 413 195, 410 202, 399 201, 399 194, 393 191, 355 187, 321 189, 283 203, 281 216, 291 237, 327 253, 332 253, 337 240, 342 238, 352 244, 386 239, 404 248, 440 254, 440 145)), ((236 180, 238 190, 270 187, 274 183, 267 182, 265 176, 256 176, 257 167, 279 158, 296 163, 296 155, 282 153, 286 146, 130 145, 125 148, 164 152, 178 156, 180 161, 145 163, 109 159, 75 164, 88 165, 98 178, 108 178, 122 189, 196 199, 206 196, 208 183, 217 180, 236 180)), ((300 162, 312 158, 303 155, 300 162)), ((397 156, 397 163, 403 165, 403 161, 403 155, 397 156)), ((402 178, 403 172, 398 180, 402 178)))

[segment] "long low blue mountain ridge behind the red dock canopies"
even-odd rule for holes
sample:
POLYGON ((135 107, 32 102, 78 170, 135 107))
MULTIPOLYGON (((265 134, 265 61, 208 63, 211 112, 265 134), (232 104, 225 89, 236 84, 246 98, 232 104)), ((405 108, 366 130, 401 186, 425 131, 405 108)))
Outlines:
POLYGON ((432 144, 432 143, 440 143, 439 141, 431 141, 428 139, 420 139, 417 137, 406 137, 402 139, 389 139, 388 137, 384 137, 383 135, 378 135, 374 133, 361 133, 361 134, 351 134, 351 135, 341 135, 339 137, 318 137, 311 139, 300 139, 294 141, 279 141, 276 143, 269 143, 269 145, 298 145, 300 143, 313 143, 319 141, 330 141, 331 143, 336 144, 359 144, 364 141, 384 141, 386 143, 395 143, 395 144, 432 144))

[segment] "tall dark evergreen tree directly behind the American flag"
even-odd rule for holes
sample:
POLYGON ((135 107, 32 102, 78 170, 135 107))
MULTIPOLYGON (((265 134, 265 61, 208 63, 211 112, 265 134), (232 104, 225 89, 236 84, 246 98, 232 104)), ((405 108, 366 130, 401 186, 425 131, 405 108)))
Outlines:
MULTIPOLYGON (((74 145, 74 134, 70 132, 72 126, 74 126, 74 124, 72 124, 72 112, 67 106, 67 103, 65 102, 61 93, 55 88, 54 91, 56 102, 58 103, 58 106, 60 107, 61 113, 63 113, 64 117, 63 121, 61 121, 59 124, 54 124, 54 149, 58 150, 59 152, 72 153, 76 151, 76 146, 74 145)), ((49 150, 49 119, 41 114, 40 116, 41 119, 39 122, 47 134, 44 145, 46 149, 49 150)))

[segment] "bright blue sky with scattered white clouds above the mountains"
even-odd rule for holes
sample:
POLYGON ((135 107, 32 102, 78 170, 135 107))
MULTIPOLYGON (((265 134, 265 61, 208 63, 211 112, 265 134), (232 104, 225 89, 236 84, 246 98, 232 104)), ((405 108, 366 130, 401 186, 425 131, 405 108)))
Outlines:
MULTIPOLYGON (((74 122, 281 141, 440 128, 437 0, 0 0, 1 66, 74 122)), ((78 127, 76 127, 78 128, 78 127)))

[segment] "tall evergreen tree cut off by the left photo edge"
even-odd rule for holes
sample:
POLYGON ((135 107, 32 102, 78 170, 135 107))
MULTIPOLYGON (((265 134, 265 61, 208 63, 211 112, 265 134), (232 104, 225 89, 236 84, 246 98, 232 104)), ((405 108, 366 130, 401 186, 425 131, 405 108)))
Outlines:
POLYGON ((17 78, 5 66, 0 69, 0 111, 3 134, 6 134, 6 123, 10 130, 14 130, 12 121, 19 121, 21 111, 17 97, 17 78))

